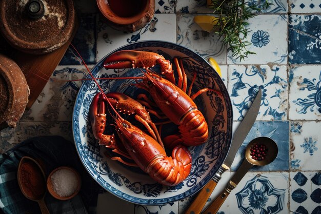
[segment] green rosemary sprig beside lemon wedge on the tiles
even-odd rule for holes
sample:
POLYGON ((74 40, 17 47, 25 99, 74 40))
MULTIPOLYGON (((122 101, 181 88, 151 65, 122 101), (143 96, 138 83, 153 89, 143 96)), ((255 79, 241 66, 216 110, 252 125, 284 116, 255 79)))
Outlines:
MULTIPOLYGON (((268 0, 264 0, 262 8, 268 8, 270 5, 268 0)), ((256 54, 247 49, 251 46, 247 40, 250 32, 247 21, 261 12, 262 8, 245 3, 244 0, 212 0, 210 8, 214 10, 213 13, 219 15, 217 23, 219 30, 215 33, 223 36, 223 43, 229 45, 228 51, 232 51, 234 59, 242 61, 249 54, 256 54)))

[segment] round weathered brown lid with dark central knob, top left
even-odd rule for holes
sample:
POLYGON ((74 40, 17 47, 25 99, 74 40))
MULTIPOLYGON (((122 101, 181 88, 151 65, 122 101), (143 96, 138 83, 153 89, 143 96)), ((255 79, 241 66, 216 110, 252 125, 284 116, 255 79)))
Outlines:
POLYGON ((63 46, 76 18, 72 0, 3 0, 0 14, 0 30, 7 42, 31 54, 63 46))

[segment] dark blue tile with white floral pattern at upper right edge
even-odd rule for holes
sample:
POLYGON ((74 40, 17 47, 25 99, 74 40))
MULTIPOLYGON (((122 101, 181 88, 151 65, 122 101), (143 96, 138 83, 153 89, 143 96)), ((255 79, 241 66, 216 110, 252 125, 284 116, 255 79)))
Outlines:
POLYGON ((320 64, 321 16, 294 15, 289 18, 289 63, 320 64))

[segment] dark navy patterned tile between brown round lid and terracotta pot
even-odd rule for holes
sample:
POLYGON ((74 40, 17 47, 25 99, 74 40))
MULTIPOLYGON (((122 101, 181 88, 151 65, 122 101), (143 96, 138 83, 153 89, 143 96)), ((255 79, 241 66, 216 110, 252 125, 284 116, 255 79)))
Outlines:
MULTIPOLYGON (((96 63, 96 14, 79 13, 79 27, 71 44, 81 54, 86 64, 96 63)), ((79 55, 69 46, 59 65, 80 65, 79 55)))

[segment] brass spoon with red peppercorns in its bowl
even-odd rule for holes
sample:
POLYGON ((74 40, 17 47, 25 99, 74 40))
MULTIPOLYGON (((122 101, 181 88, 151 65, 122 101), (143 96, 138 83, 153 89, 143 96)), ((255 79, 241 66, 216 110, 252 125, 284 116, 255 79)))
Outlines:
POLYGON ((237 184, 240 182, 240 180, 242 180, 242 178, 245 176, 248 170, 254 165, 265 166, 271 163, 276 158, 277 152, 278 152, 277 145, 270 138, 259 137, 252 140, 246 147, 245 160, 243 161, 242 165, 240 165, 240 167, 237 169, 234 176, 229 181, 227 187, 223 190, 223 192, 219 194, 218 197, 216 197, 216 199, 207 207, 207 209, 203 213, 215 214, 220 208, 220 206, 222 206, 226 198, 229 196, 231 190, 233 190, 237 186, 237 184), (257 161, 251 158, 252 157, 251 148, 254 144, 257 144, 257 145, 264 144, 266 148, 268 148, 268 151, 264 160, 257 161))

